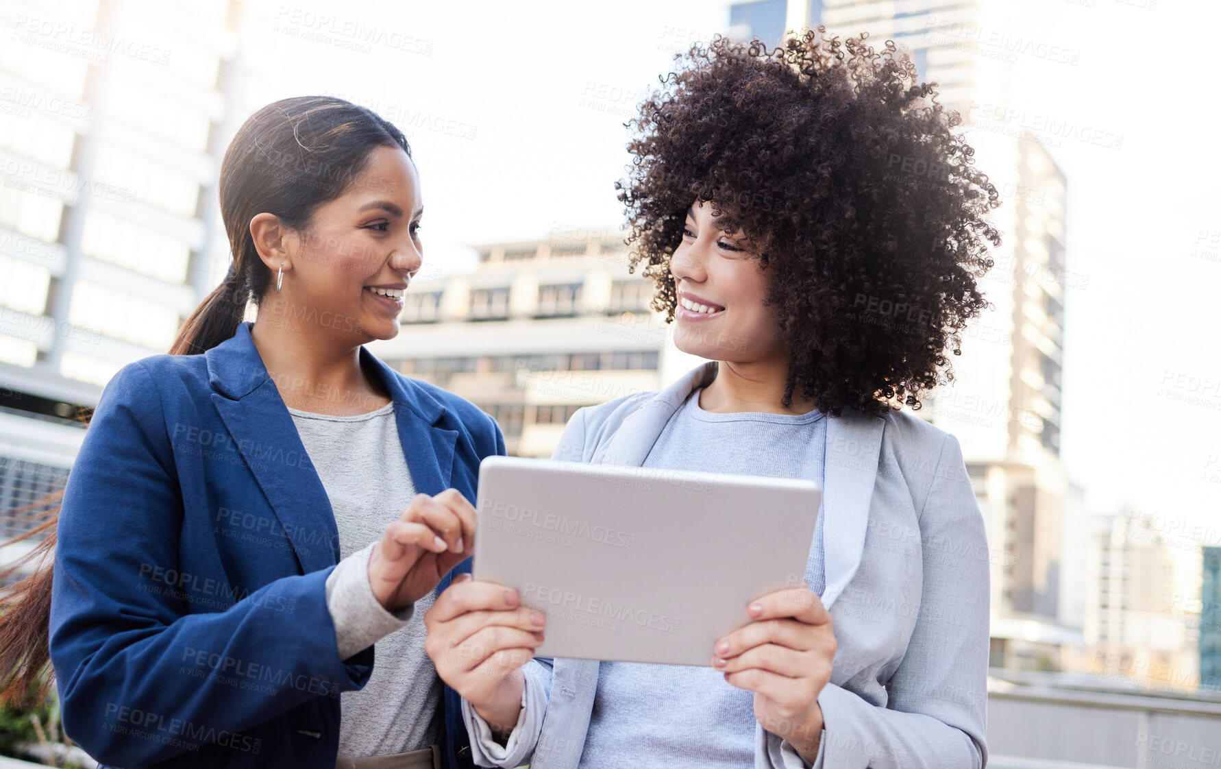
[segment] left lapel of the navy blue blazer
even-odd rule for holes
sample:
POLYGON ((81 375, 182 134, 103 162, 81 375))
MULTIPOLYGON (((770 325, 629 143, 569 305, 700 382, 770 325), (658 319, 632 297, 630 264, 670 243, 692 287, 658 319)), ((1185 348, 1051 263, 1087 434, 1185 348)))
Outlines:
POLYGON ((331 500, 305 453, 293 417, 267 376, 248 323, 206 353, 212 403, 254 474, 302 572, 339 561, 331 500))

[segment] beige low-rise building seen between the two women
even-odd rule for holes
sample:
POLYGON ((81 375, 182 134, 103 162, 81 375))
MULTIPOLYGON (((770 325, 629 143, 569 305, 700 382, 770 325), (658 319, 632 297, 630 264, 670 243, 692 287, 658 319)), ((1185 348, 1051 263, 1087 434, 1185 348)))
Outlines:
POLYGON ((416 281, 403 330, 370 349, 496 417, 510 454, 549 457, 582 405, 659 389, 700 361, 648 309, 621 232, 560 228, 477 247, 465 275, 416 281))

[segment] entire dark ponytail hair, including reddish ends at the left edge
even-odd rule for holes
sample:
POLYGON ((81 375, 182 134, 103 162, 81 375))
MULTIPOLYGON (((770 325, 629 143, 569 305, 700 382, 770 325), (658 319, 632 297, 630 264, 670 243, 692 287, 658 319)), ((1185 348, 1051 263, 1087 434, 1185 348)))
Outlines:
MULTIPOLYGON (((282 99, 252 115, 221 161, 221 218, 228 233, 230 262, 225 281, 195 308, 170 347, 171 355, 206 352, 237 331, 249 301, 259 303, 271 281, 254 248, 250 220, 275 214, 293 229, 309 227, 317 206, 343 194, 377 146, 411 148, 403 132, 372 110, 333 96, 282 99)), ((46 696, 50 677, 51 574, 57 503, 63 492, 13 510, 28 516, 40 508, 39 522, 9 542, 46 537, 0 570, 0 706, 28 704, 46 696), (46 509, 46 505, 56 505, 46 509), (34 566, 21 581, 7 580, 34 566)))

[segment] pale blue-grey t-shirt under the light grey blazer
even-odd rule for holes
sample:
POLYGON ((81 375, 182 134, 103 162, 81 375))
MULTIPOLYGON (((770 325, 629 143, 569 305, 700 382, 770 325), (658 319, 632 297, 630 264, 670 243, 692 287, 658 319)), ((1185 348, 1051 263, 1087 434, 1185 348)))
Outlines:
MULTIPOLYGON (((700 393, 674 414, 642 466, 823 483, 827 420, 821 411, 718 414, 700 408, 700 393)), ((822 541, 819 516, 806 571, 817 593, 824 581, 822 541)), ((598 666, 580 769, 753 765, 753 695, 726 684, 719 670, 606 662, 598 666)))

